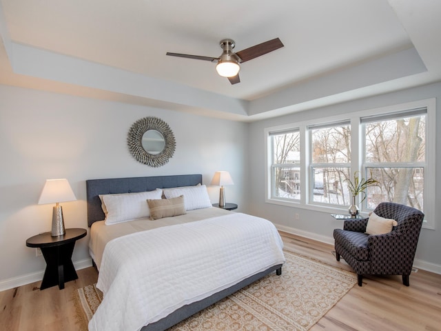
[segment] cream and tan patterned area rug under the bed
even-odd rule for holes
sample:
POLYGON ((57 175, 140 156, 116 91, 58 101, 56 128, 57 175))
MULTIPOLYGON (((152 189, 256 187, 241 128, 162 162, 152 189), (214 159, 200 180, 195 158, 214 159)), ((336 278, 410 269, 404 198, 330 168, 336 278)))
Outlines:
MULTIPOLYGON (((174 325, 170 331, 309 330, 356 284, 356 275, 286 252, 275 272, 174 325)), ((81 330, 103 299, 95 285, 74 292, 81 330)))

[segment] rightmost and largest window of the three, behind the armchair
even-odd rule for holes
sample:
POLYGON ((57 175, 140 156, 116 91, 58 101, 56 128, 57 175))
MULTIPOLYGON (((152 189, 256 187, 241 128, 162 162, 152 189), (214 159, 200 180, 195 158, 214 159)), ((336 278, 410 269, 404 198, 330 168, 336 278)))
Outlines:
POLYGON ((380 181, 365 208, 392 201, 424 210, 427 108, 361 119, 365 169, 380 181))

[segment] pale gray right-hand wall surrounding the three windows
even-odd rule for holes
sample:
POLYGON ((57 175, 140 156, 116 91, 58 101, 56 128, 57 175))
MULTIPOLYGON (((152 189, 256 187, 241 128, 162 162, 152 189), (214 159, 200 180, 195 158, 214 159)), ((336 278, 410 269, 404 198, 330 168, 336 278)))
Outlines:
MULTIPOLYGON (((358 112, 433 97, 437 98, 436 128, 441 128, 441 83, 251 123, 248 137, 249 164, 254 166, 249 168, 248 212, 259 217, 265 217, 281 225, 279 228, 284 230, 334 243, 333 230, 334 228, 342 228, 342 221, 336 221, 324 212, 265 203, 264 129, 285 123, 320 119, 334 114, 358 112), (296 213, 299 214, 298 220, 294 217, 296 213)), ((437 134, 436 137, 436 163, 437 165, 441 164, 441 134, 437 134)), ((438 168, 440 167, 437 166, 437 170, 438 168)), ((434 201, 437 206, 435 215, 439 215, 441 212, 441 175, 437 174, 434 180, 437 188, 434 201)), ((416 259, 418 260, 416 265, 419 268, 441 273, 441 220, 439 218, 435 219, 435 230, 422 229, 416 259)))

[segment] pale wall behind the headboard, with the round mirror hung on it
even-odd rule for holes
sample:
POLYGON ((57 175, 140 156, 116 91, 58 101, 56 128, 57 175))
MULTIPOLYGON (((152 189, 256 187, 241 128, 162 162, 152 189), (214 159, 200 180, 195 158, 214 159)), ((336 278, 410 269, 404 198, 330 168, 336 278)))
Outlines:
MULTIPOLYGON (((169 110, 71 97, 0 85, 0 290, 40 280, 45 262, 25 246, 50 231, 52 205, 37 205, 45 179, 67 178, 77 201, 61 203, 66 228, 88 228, 85 180, 228 170, 234 186, 227 201, 245 208, 247 124, 169 110), (147 116, 163 119, 176 151, 160 168, 136 161, 127 132, 147 116)), ((209 187, 212 203, 218 188, 209 187)), ((76 243, 72 260, 88 265, 88 237, 76 243)))

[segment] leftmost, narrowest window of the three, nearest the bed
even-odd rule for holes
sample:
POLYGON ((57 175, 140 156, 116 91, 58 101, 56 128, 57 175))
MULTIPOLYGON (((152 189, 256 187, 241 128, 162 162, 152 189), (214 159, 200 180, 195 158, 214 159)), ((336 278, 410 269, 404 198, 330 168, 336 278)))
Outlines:
POLYGON ((290 129, 269 133, 271 197, 300 200, 300 132, 290 129))

